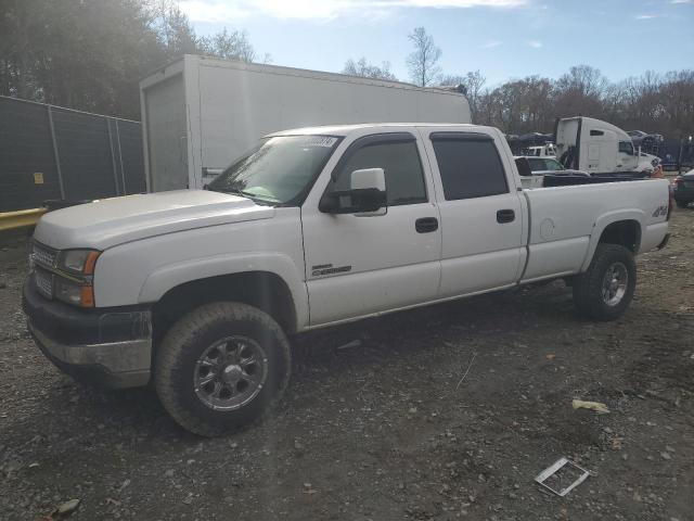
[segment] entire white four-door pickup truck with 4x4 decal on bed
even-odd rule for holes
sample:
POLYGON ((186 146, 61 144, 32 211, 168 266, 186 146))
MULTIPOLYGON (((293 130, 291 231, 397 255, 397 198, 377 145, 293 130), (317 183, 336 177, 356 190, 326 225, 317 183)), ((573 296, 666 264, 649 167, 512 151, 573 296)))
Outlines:
POLYGON ((625 313, 634 255, 667 241, 665 180, 523 190, 496 128, 372 124, 273 134, 207 190, 43 216, 24 309, 57 367, 145 385, 183 428, 258 418, 292 335, 563 278, 625 313))

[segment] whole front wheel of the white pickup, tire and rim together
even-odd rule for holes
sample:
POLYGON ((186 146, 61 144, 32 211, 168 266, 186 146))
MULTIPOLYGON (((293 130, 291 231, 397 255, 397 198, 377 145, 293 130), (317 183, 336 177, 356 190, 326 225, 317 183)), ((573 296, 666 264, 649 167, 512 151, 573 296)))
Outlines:
POLYGON ((216 436, 261 417, 284 392, 290 371, 290 343, 272 317, 218 302, 193 309, 167 332, 155 386, 183 429, 216 436))

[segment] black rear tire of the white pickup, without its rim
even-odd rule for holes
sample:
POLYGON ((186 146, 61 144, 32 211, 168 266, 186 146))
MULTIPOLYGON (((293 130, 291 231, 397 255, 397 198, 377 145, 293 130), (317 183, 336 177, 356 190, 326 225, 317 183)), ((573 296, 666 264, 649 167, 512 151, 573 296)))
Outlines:
POLYGON ((588 270, 574 278, 574 304, 578 313, 593 320, 615 320, 629 307, 637 287, 637 264, 633 254, 618 244, 597 244, 588 270), (603 298, 603 280, 615 263, 627 269, 627 288, 616 305, 608 305, 603 298))

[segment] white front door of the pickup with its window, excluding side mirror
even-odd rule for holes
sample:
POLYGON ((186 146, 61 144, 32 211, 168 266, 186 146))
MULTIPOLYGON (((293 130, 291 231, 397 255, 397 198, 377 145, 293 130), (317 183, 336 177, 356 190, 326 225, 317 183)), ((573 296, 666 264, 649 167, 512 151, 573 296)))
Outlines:
MULTIPOLYGON (((383 168, 383 215, 322 213, 313 190, 301 207, 310 325, 320 326, 436 298, 441 230, 425 152, 402 127, 356 139, 325 190, 345 190, 350 174, 383 168)), ((318 188, 318 186, 317 186, 318 188)))

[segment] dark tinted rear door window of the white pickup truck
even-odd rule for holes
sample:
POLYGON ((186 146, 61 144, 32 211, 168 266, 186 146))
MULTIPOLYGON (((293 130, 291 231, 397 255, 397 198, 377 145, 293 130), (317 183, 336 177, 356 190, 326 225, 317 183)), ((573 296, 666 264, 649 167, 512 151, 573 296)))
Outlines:
POLYGON ((447 201, 509 192, 503 164, 489 136, 436 132, 432 143, 447 201))

